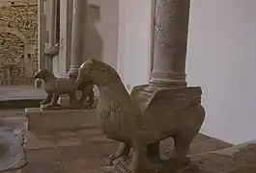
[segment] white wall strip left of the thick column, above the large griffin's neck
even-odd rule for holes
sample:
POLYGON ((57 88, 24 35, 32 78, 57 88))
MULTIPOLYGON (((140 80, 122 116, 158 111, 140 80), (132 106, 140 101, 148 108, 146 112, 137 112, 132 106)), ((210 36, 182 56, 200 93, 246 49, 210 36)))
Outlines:
POLYGON ((118 71, 130 90, 149 79, 151 0, 119 0, 118 71))

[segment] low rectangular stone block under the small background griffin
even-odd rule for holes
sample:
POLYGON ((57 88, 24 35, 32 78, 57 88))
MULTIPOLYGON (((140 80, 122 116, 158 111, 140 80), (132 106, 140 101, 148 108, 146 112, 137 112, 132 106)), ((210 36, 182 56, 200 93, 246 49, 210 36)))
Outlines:
POLYGON ((97 126, 96 109, 42 111, 40 108, 27 108, 25 115, 28 130, 36 134, 97 126))

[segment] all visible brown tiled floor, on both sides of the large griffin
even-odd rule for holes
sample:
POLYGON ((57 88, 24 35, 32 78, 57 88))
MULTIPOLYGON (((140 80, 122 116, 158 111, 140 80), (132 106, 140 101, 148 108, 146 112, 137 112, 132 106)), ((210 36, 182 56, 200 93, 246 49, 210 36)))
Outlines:
MULTIPOLYGON (((23 110, 0 111, 2 116, 24 116, 23 110)), ((28 163, 20 170, 6 173, 101 173, 109 168, 108 157, 115 153, 118 142, 106 138, 100 129, 61 131, 50 135, 26 134, 28 163), (104 167, 104 171, 102 171, 104 167)), ((161 143, 161 152, 172 149, 172 139, 161 143)), ((191 154, 219 150, 231 146, 209 136, 198 135, 191 154)))

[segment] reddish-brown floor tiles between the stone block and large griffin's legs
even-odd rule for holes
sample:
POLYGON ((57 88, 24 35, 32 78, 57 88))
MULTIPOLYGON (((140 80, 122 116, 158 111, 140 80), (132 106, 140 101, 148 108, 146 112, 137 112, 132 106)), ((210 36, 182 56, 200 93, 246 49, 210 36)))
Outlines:
POLYGON ((106 138, 99 129, 37 138, 28 135, 26 143, 28 164, 22 173, 97 173, 100 167, 107 166, 106 159, 118 147, 117 142, 106 138))

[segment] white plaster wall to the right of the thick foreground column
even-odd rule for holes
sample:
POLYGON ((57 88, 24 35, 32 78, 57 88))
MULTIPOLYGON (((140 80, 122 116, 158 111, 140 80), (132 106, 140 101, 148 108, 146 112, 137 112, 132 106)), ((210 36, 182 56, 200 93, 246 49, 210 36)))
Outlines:
POLYGON ((256 1, 192 0, 187 81, 202 86, 202 132, 240 143, 256 139, 256 1))

